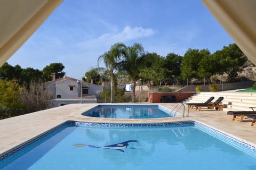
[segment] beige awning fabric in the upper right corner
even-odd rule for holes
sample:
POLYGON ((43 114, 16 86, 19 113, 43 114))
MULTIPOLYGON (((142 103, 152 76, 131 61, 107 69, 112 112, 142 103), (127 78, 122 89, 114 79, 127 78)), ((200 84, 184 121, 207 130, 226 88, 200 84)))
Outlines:
POLYGON ((249 60, 256 64, 256 1, 201 1, 249 60))

